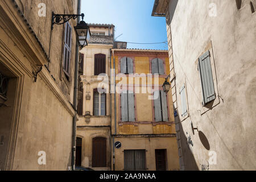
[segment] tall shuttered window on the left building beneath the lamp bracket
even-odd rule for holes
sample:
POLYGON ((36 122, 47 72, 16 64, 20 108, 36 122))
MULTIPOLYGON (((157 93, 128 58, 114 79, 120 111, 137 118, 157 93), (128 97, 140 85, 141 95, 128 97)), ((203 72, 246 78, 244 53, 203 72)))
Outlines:
POLYGON ((69 76, 69 67, 71 62, 71 46, 72 46, 72 27, 67 22, 65 23, 65 39, 64 39, 64 55, 63 55, 63 70, 69 76))

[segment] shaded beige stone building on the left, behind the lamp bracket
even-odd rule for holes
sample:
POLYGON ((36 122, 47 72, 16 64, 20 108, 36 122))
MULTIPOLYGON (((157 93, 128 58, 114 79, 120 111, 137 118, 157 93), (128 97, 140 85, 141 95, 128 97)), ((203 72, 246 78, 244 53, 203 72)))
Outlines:
POLYGON ((1 170, 72 165, 77 21, 51 22, 52 11, 78 14, 81 1, 43 2, 0 1, 1 170))

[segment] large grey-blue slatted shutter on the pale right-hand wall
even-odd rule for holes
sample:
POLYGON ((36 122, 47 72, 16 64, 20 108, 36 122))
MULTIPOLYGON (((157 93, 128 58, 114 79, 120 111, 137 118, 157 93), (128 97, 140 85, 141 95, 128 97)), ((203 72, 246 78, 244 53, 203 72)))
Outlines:
POLYGON ((203 105, 213 101, 215 96, 212 66, 210 65, 210 52, 205 52, 199 57, 199 71, 203 90, 203 105))

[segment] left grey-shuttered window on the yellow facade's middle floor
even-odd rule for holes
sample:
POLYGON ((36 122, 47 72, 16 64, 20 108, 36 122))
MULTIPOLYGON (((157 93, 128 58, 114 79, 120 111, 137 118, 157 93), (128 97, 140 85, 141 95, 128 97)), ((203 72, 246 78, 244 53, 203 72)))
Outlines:
POLYGON ((121 93, 121 121, 135 121, 134 93, 132 91, 123 91, 121 93))

